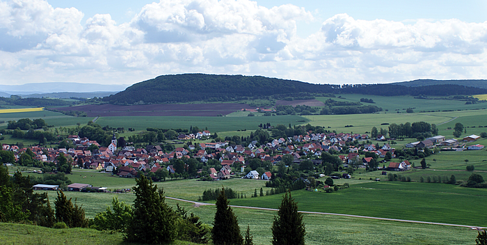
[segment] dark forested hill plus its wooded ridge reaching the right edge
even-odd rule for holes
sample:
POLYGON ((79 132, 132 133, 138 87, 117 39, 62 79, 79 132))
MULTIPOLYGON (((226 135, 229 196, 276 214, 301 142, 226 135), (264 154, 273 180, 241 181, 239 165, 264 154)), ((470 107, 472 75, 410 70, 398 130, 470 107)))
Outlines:
POLYGON ((319 94, 364 95, 477 95, 486 88, 460 85, 408 87, 397 84, 330 85, 308 84, 268 77, 216 74, 163 75, 129 86, 103 100, 110 104, 159 104, 192 101, 234 101, 273 97, 306 99, 319 94))

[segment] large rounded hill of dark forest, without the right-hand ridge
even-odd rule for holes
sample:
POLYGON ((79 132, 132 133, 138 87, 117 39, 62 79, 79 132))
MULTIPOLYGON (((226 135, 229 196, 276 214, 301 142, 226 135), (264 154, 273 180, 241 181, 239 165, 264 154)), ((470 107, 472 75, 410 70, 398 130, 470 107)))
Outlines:
POLYGON ((268 77, 241 75, 164 75, 134 84, 104 97, 111 104, 156 104, 191 101, 232 101, 299 93, 333 93, 331 85, 308 84, 268 77))

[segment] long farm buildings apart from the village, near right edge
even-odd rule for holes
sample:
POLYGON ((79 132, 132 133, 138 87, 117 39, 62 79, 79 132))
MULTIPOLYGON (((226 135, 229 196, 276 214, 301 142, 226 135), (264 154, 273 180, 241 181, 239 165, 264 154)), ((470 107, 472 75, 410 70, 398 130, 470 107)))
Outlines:
MULTIPOLYGON (((480 139, 480 136, 477 136, 475 134, 465 136, 463 137, 463 142, 473 142, 477 141, 477 139, 480 139)), ((460 142, 458 142, 457 139, 446 139, 445 136, 433 136, 427 139, 424 139, 424 141, 416 141, 416 142, 411 142, 407 143, 406 147, 407 148, 433 148, 433 147, 444 147, 443 150, 465 150, 463 147, 459 147, 460 142)), ((470 145, 468 146, 467 150, 481 150, 484 148, 484 145, 470 145)))

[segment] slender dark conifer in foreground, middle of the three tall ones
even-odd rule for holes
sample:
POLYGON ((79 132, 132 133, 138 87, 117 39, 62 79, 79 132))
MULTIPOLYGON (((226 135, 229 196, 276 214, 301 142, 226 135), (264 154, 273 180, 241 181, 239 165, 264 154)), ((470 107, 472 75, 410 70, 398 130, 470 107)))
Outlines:
POLYGON ((240 234, 239 221, 232 208, 228 206, 223 187, 216 198, 216 213, 211 235, 215 245, 241 245, 244 243, 244 238, 240 234))

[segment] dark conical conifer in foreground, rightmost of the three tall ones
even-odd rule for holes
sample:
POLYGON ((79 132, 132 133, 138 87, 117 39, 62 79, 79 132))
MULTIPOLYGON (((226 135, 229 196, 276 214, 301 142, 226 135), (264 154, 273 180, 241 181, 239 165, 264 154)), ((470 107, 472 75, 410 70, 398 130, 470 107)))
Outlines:
POLYGON ((291 197, 291 191, 285 193, 279 207, 278 216, 274 216, 272 226, 273 245, 305 244, 305 225, 303 214, 298 212, 298 205, 291 197))

